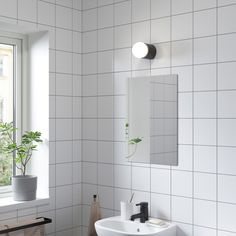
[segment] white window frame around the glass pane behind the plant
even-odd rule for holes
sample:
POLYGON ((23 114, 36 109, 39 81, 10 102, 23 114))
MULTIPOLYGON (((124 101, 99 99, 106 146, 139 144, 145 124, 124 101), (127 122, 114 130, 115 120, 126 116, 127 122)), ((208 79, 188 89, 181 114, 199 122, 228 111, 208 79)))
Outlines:
MULTIPOLYGON (((14 46, 14 59, 13 59, 13 79, 14 79, 14 125, 17 127, 16 140, 19 140, 23 130, 22 115, 23 115, 23 100, 22 100, 22 88, 23 88, 23 61, 24 52, 26 52, 26 37, 23 35, 6 33, 0 31, 0 43, 14 46), (24 51, 23 51, 24 50, 24 51), (16 62, 16 63, 15 63, 16 62)), ((13 161, 13 175, 16 173, 16 167, 13 161)), ((12 196, 12 186, 0 187, 0 198, 12 196)))

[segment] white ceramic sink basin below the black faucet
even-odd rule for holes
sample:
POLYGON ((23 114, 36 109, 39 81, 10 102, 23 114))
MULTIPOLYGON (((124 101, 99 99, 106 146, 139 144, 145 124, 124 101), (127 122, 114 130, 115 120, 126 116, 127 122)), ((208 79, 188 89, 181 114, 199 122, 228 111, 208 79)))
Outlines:
POLYGON ((98 236, 176 236, 176 226, 169 224, 159 228, 137 221, 121 220, 119 216, 98 220, 95 223, 98 236))

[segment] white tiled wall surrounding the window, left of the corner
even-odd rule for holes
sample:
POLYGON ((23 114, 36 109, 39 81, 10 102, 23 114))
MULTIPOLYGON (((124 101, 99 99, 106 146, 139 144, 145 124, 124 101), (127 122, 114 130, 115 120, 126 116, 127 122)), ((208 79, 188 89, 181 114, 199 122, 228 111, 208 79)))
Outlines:
POLYGON ((50 217, 47 235, 81 230, 81 1, 0 0, 0 21, 50 32, 50 205, 0 216, 50 217))

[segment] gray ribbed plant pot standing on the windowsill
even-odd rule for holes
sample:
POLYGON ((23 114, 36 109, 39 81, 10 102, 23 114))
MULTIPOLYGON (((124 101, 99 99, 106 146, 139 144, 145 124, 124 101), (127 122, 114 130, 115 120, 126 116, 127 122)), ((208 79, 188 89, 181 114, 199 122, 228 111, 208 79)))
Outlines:
POLYGON ((36 199, 37 176, 16 175, 12 177, 13 198, 15 201, 32 201, 36 199))

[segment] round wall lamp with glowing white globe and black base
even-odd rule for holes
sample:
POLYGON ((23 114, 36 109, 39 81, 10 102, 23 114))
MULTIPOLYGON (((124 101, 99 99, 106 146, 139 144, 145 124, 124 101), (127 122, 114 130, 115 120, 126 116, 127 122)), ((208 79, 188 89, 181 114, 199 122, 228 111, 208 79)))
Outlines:
POLYGON ((152 44, 138 42, 133 45, 132 53, 137 58, 153 59, 156 56, 156 47, 152 44))

